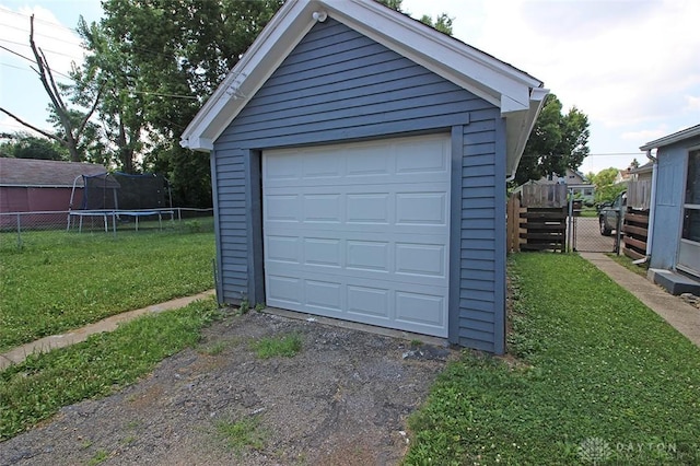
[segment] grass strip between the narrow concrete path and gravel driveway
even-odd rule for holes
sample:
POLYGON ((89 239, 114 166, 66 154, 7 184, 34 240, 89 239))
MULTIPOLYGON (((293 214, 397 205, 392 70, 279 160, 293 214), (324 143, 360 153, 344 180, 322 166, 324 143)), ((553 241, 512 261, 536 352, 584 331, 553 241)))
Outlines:
POLYGON ((147 315, 112 333, 0 372, 0 441, 85 398, 109 395, 153 370, 162 359, 192 347, 219 315, 214 300, 147 315))

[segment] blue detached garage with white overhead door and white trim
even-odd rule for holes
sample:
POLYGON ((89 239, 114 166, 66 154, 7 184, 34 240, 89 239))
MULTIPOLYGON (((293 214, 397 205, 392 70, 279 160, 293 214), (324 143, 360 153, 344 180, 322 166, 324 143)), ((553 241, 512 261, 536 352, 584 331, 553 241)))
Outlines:
POLYGON ((288 1, 182 137, 219 298, 505 350, 505 183, 529 74, 372 0, 288 1))

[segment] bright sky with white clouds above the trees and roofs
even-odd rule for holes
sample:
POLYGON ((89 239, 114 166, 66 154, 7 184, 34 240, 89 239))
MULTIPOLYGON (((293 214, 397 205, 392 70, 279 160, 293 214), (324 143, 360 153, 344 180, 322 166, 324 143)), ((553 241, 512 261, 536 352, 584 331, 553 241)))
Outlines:
MULTIPOLYGON (((337 0, 343 1, 343 0, 337 0)), ((415 16, 446 12, 454 35, 545 82, 591 121, 581 171, 625 168, 639 147, 700 124, 697 0, 404 0, 415 16)), ((80 60, 78 16, 98 0, 0 0, 0 46, 31 57, 28 15, 51 67, 80 60)), ((31 63, 0 48, 0 105, 46 128, 47 97, 31 63)), ((60 77, 57 77, 60 79, 60 77)), ((0 131, 21 128, 0 115, 0 131)))

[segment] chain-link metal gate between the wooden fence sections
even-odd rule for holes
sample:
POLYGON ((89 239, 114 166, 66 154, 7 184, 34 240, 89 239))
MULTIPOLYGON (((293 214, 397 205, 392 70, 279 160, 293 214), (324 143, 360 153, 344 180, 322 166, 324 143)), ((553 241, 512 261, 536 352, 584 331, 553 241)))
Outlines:
POLYGON ((620 251, 620 212, 585 211, 580 202, 569 197, 568 243, 570 251, 586 253, 617 253, 620 251), (595 213, 595 217, 592 217, 595 213))

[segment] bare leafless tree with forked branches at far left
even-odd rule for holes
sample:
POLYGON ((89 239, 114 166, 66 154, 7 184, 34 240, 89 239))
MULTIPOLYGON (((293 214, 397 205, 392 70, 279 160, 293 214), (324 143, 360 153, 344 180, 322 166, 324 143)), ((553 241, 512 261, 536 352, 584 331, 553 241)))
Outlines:
POLYGON ((62 128, 62 133, 60 136, 50 133, 48 131, 44 131, 35 127, 34 125, 24 121, 10 110, 0 107, 0 112, 4 113, 9 117, 13 118, 15 121, 20 123, 27 128, 31 128, 40 135, 55 139, 60 142, 68 149, 70 153, 70 160, 73 162, 80 162, 82 160, 82 155, 79 150, 80 139, 83 136, 83 131, 90 120, 92 114, 100 102, 100 90, 93 96, 94 100, 92 104, 89 106, 86 112, 79 112, 77 109, 69 108, 65 103, 63 94, 66 93, 66 88, 61 88, 57 84, 54 79, 54 72, 49 67, 48 60, 44 55, 44 51, 36 46, 34 42, 34 15, 30 18, 30 47, 32 48, 32 53, 34 54, 34 59, 37 66, 37 69, 32 68, 39 77, 39 81, 42 81, 42 85, 46 91, 50 100, 49 108, 56 117, 56 121, 60 124, 62 128))

